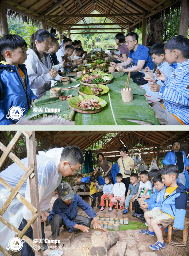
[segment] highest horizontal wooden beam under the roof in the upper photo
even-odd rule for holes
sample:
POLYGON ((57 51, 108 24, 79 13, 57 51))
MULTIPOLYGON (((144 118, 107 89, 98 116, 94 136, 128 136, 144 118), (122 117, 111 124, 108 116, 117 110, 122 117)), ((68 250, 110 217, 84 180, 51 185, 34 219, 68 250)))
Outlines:
POLYGON ((108 13, 108 14, 64 14, 64 15, 45 15, 46 18, 82 18, 82 17, 125 17, 125 16, 139 16, 143 13, 108 13))

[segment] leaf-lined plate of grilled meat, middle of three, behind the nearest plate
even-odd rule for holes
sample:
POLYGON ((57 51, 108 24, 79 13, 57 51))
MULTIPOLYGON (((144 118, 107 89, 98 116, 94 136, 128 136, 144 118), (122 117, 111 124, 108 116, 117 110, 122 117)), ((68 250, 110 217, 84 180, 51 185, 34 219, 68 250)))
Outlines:
POLYGON ((95 84, 94 86, 86 85, 79 88, 79 94, 81 95, 97 95, 98 97, 108 91, 109 88, 104 84, 95 84))

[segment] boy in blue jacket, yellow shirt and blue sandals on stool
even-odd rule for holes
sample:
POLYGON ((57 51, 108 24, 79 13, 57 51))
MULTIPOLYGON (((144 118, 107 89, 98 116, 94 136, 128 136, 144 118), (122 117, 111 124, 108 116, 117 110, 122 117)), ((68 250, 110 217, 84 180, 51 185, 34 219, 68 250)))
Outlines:
POLYGON ((165 248, 162 232, 158 225, 161 224, 166 228, 174 222, 174 230, 183 230, 187 207, 188 189, 183 184, 177 183, 179 175, 178 166, 164 166, 160 173, 165 184, 160 197, 161 206, 160 208, 153 208, 152 211, 145 212, 144 216, 148 229, 141 230, 142 234, 157 236, 155 244, 149 246, 153 251, 165 248))

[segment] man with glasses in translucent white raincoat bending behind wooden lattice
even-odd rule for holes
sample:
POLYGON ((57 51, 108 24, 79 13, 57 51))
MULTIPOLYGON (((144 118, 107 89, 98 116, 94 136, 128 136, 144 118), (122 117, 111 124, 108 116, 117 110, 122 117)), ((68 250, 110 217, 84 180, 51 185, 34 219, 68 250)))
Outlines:
MULTIPOLYGON (((54 190, 60 185, 62 177, 73 175, 83 163, 83 153, 77 146, 68 146, 66 148, 52 148, 48 151, 39 151, 36 155, 37 159, 37 181, 39 192, 39 208, 41 216, 41 227, 43 238, 43 249, 47 244, 44 242, 44 221, 47 216, 45 210, 49 208, 50 200, 54 194, 54 190)), ((28 167, 28 158, 24 158, 21 162, 28 167)), ((1 172, 0 177, 9 183, 13 188, 18 184, 24 171, 16 164, 10 165, 7 169, 1 172)), ((19 190, 19 193, 29 202, 30 198, 30 182, 29 178, 25 181, 19 190)), ((1 203, 3 204, 9 196, 8 190, 1 184, 1 203)), ((31 219, 31 211, 15 197, 10 203, 9 208, 3 214, 11 224, 13 224, 20 231, 26 226, 27 222, 31 219), (16 215, 13 218, 12 215, 16 215), (20 226, 19 226, 20 225, 20 226)), ((33 230, 30 226, 25 232, 25 235, 33 239, 33 230)), ((14 232, 9 230, 6 226, 1 224, 1 236, 3 240, 3 247, 9 243, 9 239, 14 237, 14 232)), ((51 251, 45 250, 44 256, 49 255, 51 251)), ((25 242, 21 249, 22 256, 34 256, 32 248, 25 242)))

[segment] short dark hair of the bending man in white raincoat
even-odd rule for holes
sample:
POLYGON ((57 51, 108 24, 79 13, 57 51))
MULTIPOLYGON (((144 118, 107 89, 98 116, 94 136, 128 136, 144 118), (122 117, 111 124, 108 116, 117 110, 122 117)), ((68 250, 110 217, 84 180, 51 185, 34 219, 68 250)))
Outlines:
POLYGON ((62 150, 61 160, 69 160, 72 165, 83 164, 83 152, 77 146, 67 146, 62 150))

